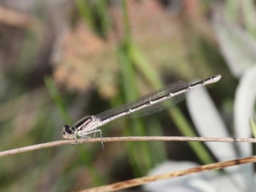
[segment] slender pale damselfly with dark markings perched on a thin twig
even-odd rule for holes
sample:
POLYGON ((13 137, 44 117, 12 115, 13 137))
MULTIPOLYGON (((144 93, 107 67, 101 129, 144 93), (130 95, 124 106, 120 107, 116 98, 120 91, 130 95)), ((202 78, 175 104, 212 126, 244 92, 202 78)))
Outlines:
POLYGON ((108 109, 98 115, 84 116, 72 126, 64 125, 62 136, 66 139, 75 139, 77 142, 77 136, 90 138, 88 134, 94 133, 95 136, 95 133, 99 132, 100 138, 102 138, 101 130, 97 129, 98 127, 108 124, 108 122, 120 118, 121 116, 131 114, 149 115, 151 113, 162 111, 163 109, 168 108, 168 106, 172 106, 185 99, 186 95, 198 86, 215 83, 219 81, 220 78, 221 75, 215 75, 193 84, 189 84, 186 81, 177 81, 168 84, 161 90, 148 93, 147 95, 132 100, 122 106, 108 109))

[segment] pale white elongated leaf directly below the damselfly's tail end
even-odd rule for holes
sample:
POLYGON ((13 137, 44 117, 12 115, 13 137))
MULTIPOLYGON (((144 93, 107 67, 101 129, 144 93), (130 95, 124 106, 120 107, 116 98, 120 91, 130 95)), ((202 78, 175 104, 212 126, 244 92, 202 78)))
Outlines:
MULTIPOLYGON (((230 137, 205 87, 196 88, 186 100, 189 114, 200 136, 230 137)), ((220 161, 236 159, 232 143, 206 142, 205 144, 220 161)))

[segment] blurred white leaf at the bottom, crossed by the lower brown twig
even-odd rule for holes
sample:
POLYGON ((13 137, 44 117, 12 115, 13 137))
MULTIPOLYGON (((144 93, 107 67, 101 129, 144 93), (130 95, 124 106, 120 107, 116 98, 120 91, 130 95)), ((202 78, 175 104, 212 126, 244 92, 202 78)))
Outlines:
MULTIPOLYGON (((189 161, 166 161, 152 169, 148 175, 158 175, 162 173, 186 170, 198 166, 189 161)), ((239 173, 233 173, 239 174, 239 173)), ((224 191, 244 191, 239 182, 230 180, 227 174, 218 172, 202 172, 192 175, 184 175, 173 179, 159 180, 143 186, 146 191, 184 191, 184 192, 224 192, 224 191)))

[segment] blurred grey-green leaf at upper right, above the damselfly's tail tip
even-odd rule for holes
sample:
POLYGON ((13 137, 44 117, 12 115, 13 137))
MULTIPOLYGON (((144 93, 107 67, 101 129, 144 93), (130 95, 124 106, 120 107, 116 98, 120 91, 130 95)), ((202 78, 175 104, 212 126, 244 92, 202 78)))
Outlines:
POLYGON ((240 77, 256 61, 256 42, 246 31, 227 22, 214 20, 220 49, 233 76, 240 77))

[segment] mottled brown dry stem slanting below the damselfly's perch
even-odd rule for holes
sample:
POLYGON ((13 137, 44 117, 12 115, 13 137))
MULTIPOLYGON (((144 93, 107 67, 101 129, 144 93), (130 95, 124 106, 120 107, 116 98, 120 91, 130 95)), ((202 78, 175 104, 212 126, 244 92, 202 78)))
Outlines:
POLYGON ((256 156, 246 157, 243 159, 234 159, 231 161, 223 161, 220 163, 212 163, 203 166, 196 166, 195 168, 189 168, 187 170, 181 170, 176 172, 164 173, 160 175, 148 176, 148 177, 140 177, 137 179, 125 180, 122 182, 116 182, 114 184, 109 184, 106 186, 100 186, 97 188, 84 189, 79 192, 103 192, 103 191, 117 191, 121 189, 131 188, 134 186, 141 186, 143 184, 147 184, 149 182, 154 182, 157 180, 171 179, 173 177, 180 177, 183 175, 189 175, 191 173, 204 172, 206 170, 219 170, 221 168, 226 168, 228 166, 235 166, 237 164, 245 164, 245 163, 255 163, 256 156))

